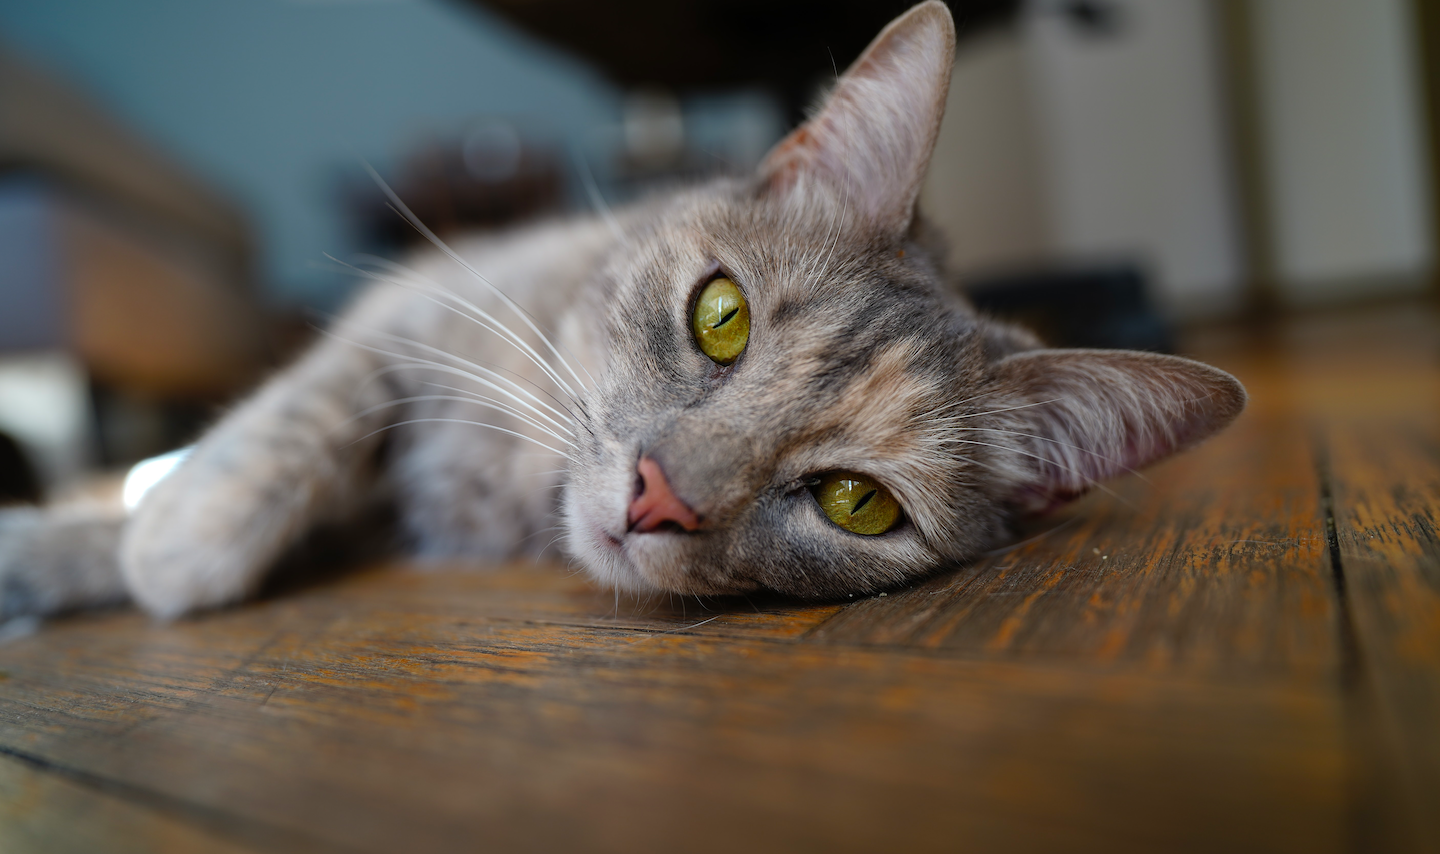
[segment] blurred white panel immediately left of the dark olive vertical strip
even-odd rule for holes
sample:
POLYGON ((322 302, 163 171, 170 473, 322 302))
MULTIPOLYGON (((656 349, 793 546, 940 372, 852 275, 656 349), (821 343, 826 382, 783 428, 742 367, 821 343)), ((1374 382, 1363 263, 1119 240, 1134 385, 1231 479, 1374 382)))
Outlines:
POLYGON ((1212 10, 1113 4, 1113 36, 1053 13, 1027 19, 1057 248, 1146 259, 1174 314, 1230 311, 1244 264, 1212 10))

